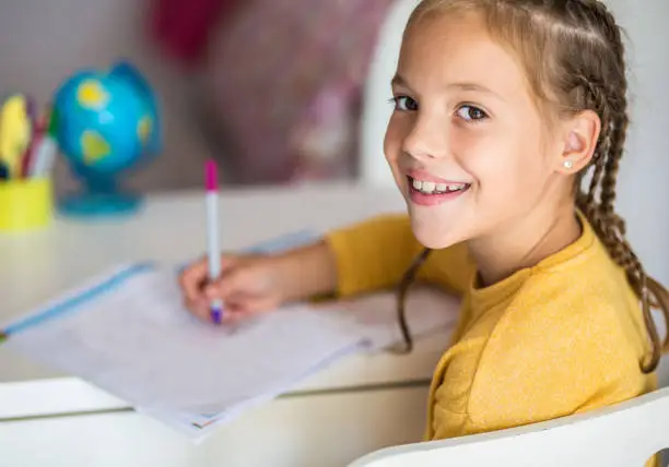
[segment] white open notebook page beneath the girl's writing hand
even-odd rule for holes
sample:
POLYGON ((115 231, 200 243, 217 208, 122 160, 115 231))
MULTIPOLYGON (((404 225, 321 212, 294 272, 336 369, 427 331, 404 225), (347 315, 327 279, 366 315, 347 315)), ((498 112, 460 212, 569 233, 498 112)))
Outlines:
POLYGON ((305 306, 235 328, 181 303, 173 271, 145 270, 8 345, 132 405, 204 412, 283 387, 356 345, 332 315, 305 306))

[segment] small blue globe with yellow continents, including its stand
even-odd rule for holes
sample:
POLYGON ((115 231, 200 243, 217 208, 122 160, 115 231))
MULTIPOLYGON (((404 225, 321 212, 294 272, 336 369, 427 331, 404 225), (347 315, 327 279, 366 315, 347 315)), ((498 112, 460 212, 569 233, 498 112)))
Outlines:
POLYGON ((51 134, 86 192, 62 206, 70 214, 132 211, 139 196, 119 192, 118 178, 160 149, 153 92, 139 71, 120 62, 109 71, 82 70, 57 89, 51 134))

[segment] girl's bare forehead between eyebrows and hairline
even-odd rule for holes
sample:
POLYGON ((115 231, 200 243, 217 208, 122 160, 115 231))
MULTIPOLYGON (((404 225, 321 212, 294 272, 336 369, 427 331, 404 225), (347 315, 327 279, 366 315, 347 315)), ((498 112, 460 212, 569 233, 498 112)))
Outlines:
POLYGON ((529 91, 517 56, 493 39, 476 12, 433 12, 411 24, 398 73, 412 87, 471 83, 509 97, 529 91))

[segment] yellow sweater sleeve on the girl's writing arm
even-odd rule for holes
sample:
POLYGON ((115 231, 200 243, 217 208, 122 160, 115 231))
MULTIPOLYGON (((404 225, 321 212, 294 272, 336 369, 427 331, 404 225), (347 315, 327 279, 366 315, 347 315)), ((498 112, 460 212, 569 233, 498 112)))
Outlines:
MULTIPOLYGON (((395 287, 423 250, 406 215, 384 215, 333 230, 326 236, 337 263, 340 297, 395 287)), ((469 284, 473 262, 465 244, 433 251, 418 280, 443 286, 455 294, 469 284)))

